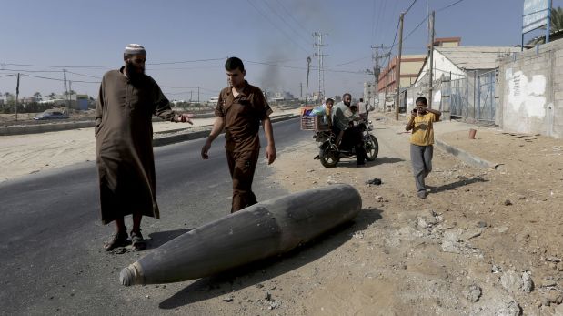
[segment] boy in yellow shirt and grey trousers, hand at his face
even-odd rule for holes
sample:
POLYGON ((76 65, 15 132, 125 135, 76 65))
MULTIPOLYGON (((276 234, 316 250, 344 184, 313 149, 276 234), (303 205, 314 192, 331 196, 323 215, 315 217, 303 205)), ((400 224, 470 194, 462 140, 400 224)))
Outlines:
POLYGON ((417 196, 420 199, 426 199, 425 178, 432 171, 432 156, 434 155, 433 123, 439 122, 442 112, 428 108, 426 97, 418 97, 416 105, 405 129, 407 131, 412 129, 410 160, 417 185, 417 196))

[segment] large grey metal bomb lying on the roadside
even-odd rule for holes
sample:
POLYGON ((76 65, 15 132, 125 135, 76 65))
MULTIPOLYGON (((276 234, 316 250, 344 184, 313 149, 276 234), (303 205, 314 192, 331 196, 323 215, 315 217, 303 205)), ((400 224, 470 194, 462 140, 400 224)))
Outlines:
POLYGON ((121 270, 124 285, 194 280, 292 250, 356 217, 362 199, 338 184, 268 199, 166 242, 121 270))

